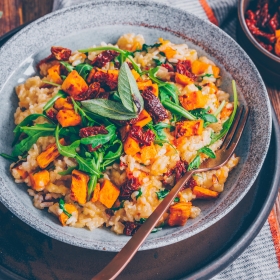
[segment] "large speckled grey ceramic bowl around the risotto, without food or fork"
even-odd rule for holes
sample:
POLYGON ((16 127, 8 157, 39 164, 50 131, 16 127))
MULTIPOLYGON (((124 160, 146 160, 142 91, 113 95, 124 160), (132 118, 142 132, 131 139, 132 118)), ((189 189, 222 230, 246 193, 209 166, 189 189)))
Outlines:
MULTIPOLYGON (((163 37, 174 43, 196 48, 221 67, 222 88, 232 93, 235 79, 240 103, 251 108, 249 122, 236 154, 240 164, 231 172, 224 192, 216 200, 197 201, 199 217, 186 226, 166 228, 151 234, 140 250, 178 242, 225 216, 248 192, 259 173, 271 135, 271 109, 262 79, 250 58, 239 45, 209 22, 194 15, 145 1, 95 1, 49 14, 17 33, 0 49, 0 151, 11 152, 13 113, 17 107, 14 87, 36 74, 36 63, 49 54, 52 45, 72 50, 101 41, 116 42, 127 32, 141 33, 146 42, 163 37)), ((0 199, 24 222, 57 240, 85 248, 119 251, 129 237, 117 236, 109 229, 61 227, 56 217, 32 205, 26 186, 15 184, 9 162, 0 159, 0 199)))

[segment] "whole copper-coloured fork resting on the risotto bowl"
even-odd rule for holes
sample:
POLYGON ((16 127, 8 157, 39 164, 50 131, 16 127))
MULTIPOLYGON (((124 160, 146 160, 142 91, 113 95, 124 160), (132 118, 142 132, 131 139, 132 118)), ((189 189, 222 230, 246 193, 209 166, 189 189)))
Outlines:
POLYGON ((162 215, 168 210, 168 207, 177 196, 181 187, 188 182, 194 173, 205 172, 218 169, 231 158, 246 125, 249 115, 249 108, 241 107, 237 111, 235 121, 230 132, 225 136, 223 144, 216 152, 216 158, 203 162, 199 169, 187 171, 184 176, 176 183, 169 194, 159 204, 151 216, 137 230, 133 237, 127 242, 122 250, 114 257, 114 259, 100 271, 92 280, 109 280, 115 279, 122 270, 127 266, 130 260, 138 251, 139 247, 148 237, 152 229, 156 226, 162 215))

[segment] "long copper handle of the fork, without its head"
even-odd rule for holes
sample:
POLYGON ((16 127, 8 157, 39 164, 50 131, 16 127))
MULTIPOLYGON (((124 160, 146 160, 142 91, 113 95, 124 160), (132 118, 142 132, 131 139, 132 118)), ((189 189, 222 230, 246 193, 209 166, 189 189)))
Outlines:
POLYGON ((101 270, 92 280, 111 280, 115 279, 127 266, 129 261, 138 251, 139 247, 148 237, 152 229, 156 226, 162 215, 167 211, 169 205, 177 196, 181 187, 190 179, 194 171, 188 171, 172 188, 169 194, 159 204, 155 211, 145 221, 143 225, 137 230, 133 237, 127 242, 122 250, 113 258, 113 260, 101 270))

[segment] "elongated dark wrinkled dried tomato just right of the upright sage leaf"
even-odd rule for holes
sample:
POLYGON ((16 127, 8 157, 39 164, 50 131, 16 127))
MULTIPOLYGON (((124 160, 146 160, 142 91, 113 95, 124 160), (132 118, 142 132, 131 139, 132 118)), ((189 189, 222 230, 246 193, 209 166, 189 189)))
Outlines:
POLYGON ((151 115, 155 123, 167 119, 168 115, 166 113, 166 110, 162 106, 160 100, 153 94, 153 92, 149 88, 143 90, 142 96, 144 99, 144 107, 151 115))

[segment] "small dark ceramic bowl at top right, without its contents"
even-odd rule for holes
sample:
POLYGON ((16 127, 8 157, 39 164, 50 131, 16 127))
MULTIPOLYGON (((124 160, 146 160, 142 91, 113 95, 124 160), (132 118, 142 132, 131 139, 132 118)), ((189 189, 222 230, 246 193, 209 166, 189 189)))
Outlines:
MULTIPOLYGON (((253 0, 256 2, 256 0, 253 0)), ((238 42, 252 58, 265 80, 280 85, 280 57, 263 48, 249 31, 245 13, 252 0, 239 0, 238 3, 238 42)))

